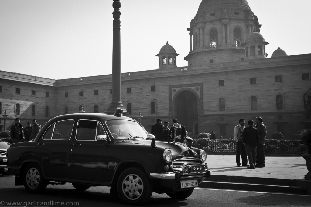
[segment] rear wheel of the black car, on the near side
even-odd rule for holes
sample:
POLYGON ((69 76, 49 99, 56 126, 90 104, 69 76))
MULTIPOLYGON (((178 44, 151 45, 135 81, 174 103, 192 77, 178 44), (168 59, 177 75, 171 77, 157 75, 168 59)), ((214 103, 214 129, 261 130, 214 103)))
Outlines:
POLYGON ((26 190, 31 193, 42 193, 48 185, 48 181, 43 178, 40 166, 35 163, 26 166, 23 173, 23 183, 26 190))

